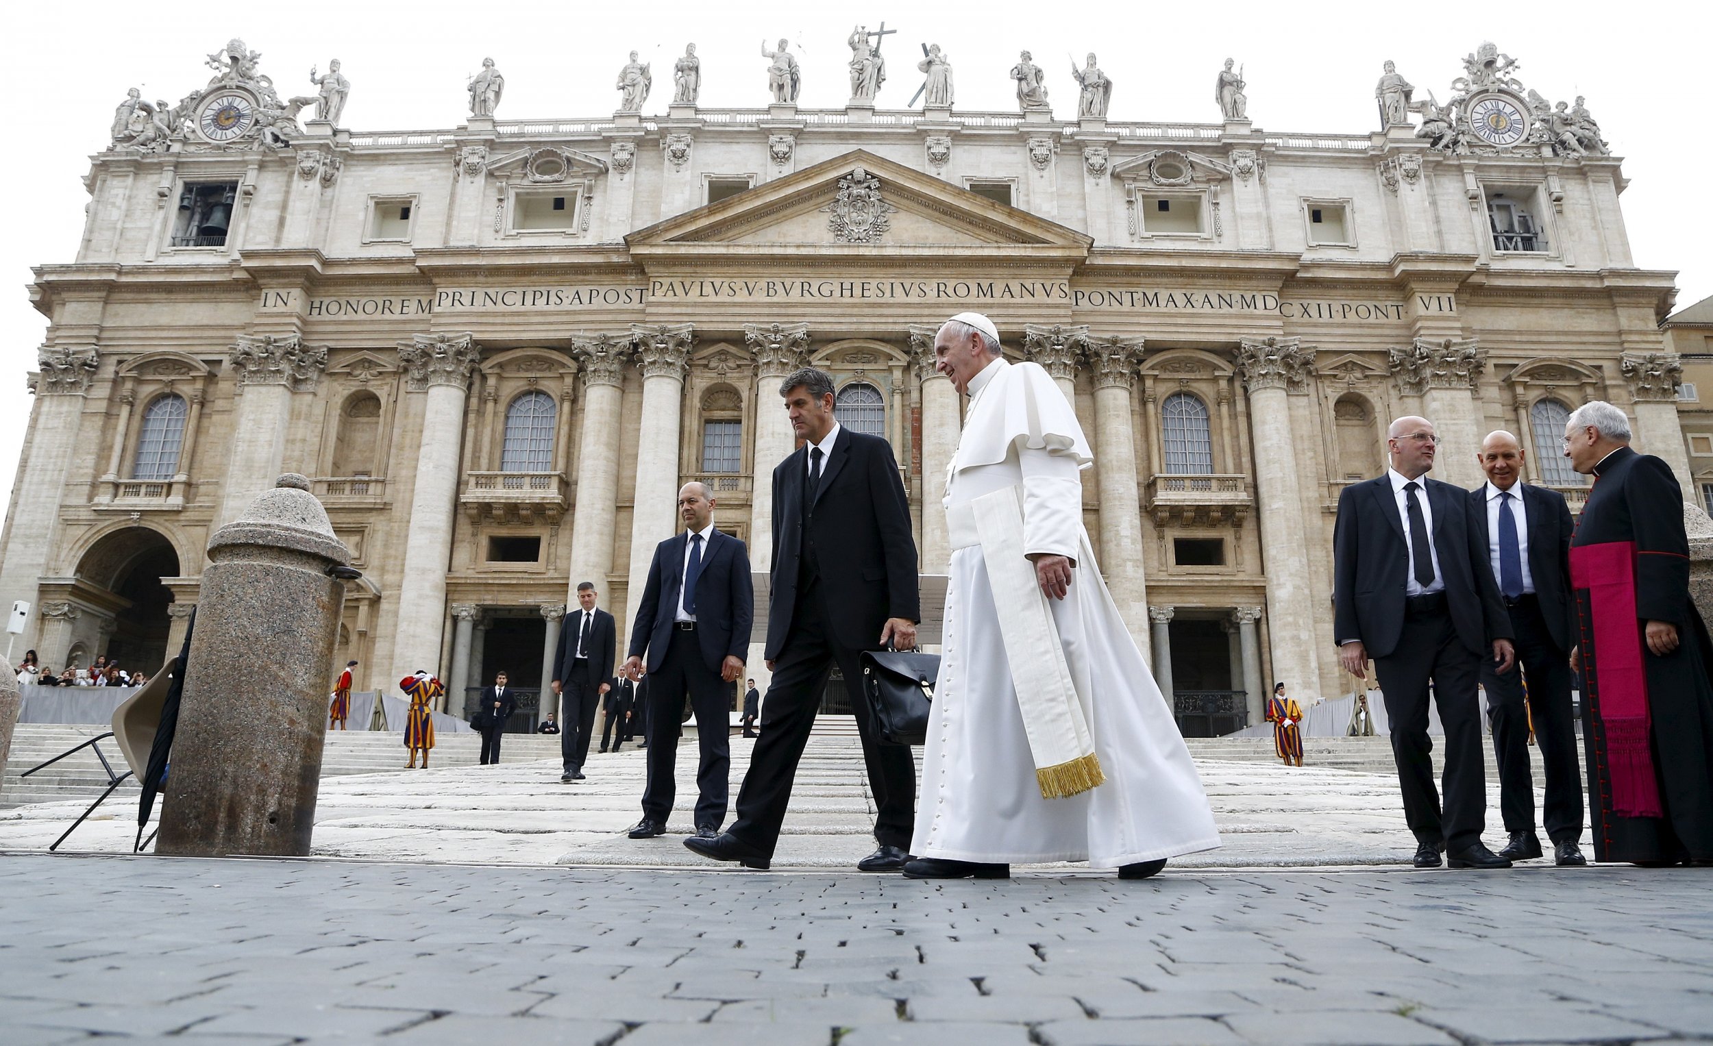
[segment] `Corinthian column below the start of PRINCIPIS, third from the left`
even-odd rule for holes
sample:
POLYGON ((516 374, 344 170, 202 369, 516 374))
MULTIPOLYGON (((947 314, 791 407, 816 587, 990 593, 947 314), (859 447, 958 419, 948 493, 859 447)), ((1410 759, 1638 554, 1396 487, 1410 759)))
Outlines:
POLYGON ((425 401, 409 531, 404 534, 392 678, 427 669, 447 680, 449 695, 463 681, 440 664, 440 630, 445 627, 445 572, 452 562, 464 397, 478 363, 481 349, 469 334, 418 334, 399 346, 406 389, 423 392, 425 401))

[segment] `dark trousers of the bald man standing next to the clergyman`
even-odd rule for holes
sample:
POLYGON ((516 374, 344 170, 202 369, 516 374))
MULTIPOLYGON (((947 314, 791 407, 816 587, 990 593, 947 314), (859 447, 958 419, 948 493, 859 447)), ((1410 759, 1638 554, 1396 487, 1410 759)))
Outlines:
POLYGON ((1554 842, 1576 842, 1583 835, 1583 770, 1576 762, 1576 724, 1571 721, 1569 654, 1552 642, 1547 621, 1540 616, 1540 603, 1533 596, 1507 603, 1507 609, 1511 627, 1516 630, 1516 666, 1499 675, 1490 657, 1482 659, 1482 686, 1487 688, 1494 757, 1499 760, 1499 811, 1504 815, 1504 830, 1535 830, 1535 779, 1528 765, 1528 717, 1533 712, 1535 743, 1547 770, 1542 823, 1554 842))

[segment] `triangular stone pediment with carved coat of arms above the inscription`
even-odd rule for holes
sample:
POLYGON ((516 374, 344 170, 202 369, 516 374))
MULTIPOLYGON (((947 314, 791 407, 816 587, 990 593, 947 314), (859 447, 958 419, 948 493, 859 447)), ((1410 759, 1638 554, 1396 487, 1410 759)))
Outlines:
POLYGON ((959 248, 1072 253, 1093 240, 867 151, 851 151, 625 238, 634 257, 728 248, 845 252, 959 248))

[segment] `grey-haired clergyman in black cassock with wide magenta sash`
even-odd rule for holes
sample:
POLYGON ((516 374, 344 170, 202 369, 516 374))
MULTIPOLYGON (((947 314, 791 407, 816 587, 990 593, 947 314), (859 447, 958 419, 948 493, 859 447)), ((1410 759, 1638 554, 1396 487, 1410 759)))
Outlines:
POLYGON ((1713 644, 1682 488, 1598 401, 1571 414, 1566 455, 1595 476, 1571 543, 1595 859, 1713 861, 1713 644))

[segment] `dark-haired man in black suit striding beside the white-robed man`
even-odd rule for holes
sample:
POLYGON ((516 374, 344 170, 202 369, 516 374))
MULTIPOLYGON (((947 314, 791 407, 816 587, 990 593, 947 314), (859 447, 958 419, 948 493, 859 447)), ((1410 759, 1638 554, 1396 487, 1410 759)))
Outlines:
POLYGON ((879 813, 862 871, 901 871, 915 825, 916 767, 908 745, 880 745, 863 714, 862 651, 916 645, 916 541, 892 447, 833 416, 833 375, 805 366, 779 383, 803 442, 773 471, 773 599, 761 740, 738 791, 738 818, 718 839, 685 839, 716 861, 767 868, 791 779, 833 666, 856 710, 879 813))

